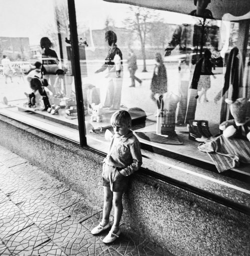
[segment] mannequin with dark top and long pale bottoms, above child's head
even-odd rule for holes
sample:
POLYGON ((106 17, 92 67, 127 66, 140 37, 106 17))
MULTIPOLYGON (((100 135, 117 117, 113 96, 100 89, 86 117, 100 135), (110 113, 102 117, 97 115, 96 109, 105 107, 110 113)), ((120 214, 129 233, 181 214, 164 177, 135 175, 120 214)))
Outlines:
POLYGON ((109 110, 117 110, 120 108, 120 98, 121 98, 121 87, 122 87, 122 66, 120 71, 120 76, 116 77, 115 65, 113 62, 116 52, 118 52, 121 65, 122 65, 122 53, 120 49, 116 46, 117 37, 113 31, 107 31, 105 33, 105 40, 108 44, 108 54, 105 59, 104 65, 95 71, 95 73, 102 72, 107 69, 106 78, 108 78, 106 99, 103 108, 108 108, 109 110))

